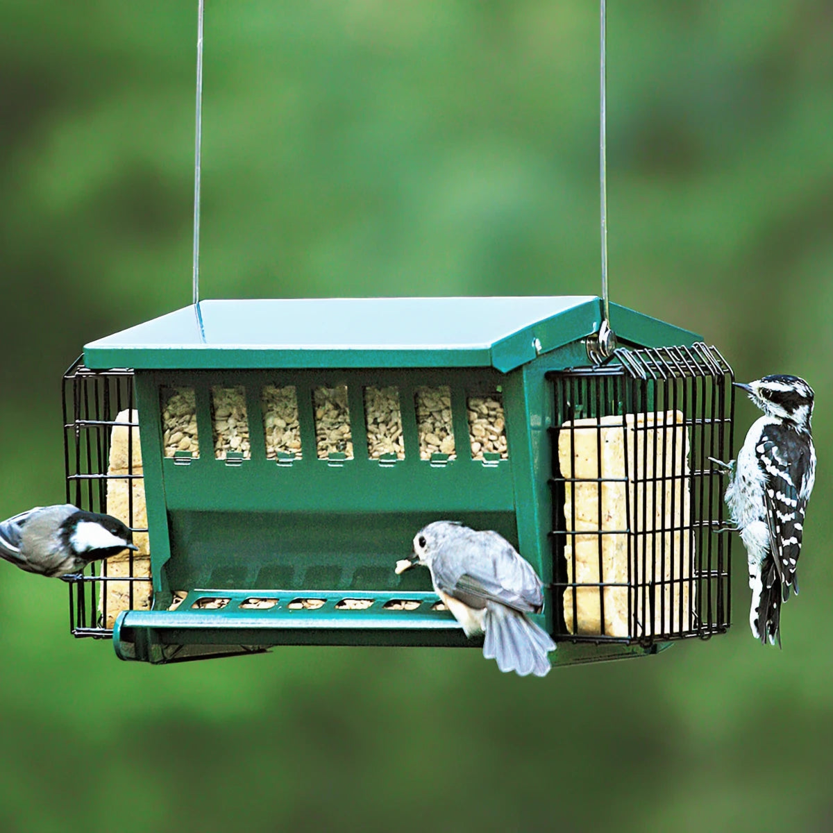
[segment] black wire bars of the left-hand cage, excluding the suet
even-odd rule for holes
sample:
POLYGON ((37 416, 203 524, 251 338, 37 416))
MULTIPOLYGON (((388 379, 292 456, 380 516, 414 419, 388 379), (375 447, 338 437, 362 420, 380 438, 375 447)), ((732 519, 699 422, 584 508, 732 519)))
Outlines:
MULTIPOLYGON (((147 532, 139 526, 133 506, 136 481, 142 471, 134 466, 134 429, 136 401, 133 391, 133 372, 127 368, 94 372, 84 367, 81 359, 73 363, 62 380, 64 465, 66 470, 67 503, 92 512, 107 512, 107 489, 111 482, 122 481, 127 492, 127 526, 135 534, 147 532), (127 421, 118 416, 127 412, 127 421), (127 471, 109 473, 109 452, 112 430, 124 426, 127 431, 127 471)), ((87 566, 81 581, 69 585, 70 631, 73 636, 109 638, 107 627, 107 584, 117 581, 126 588, 129 606, 139 583, 149 583, 149 577, 135 576, 136 556, 128 551, 122 564, 127 575, 112 576, 113 567, 107 561, 93 561, 87 566)))

